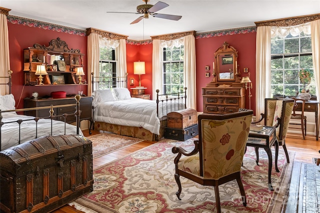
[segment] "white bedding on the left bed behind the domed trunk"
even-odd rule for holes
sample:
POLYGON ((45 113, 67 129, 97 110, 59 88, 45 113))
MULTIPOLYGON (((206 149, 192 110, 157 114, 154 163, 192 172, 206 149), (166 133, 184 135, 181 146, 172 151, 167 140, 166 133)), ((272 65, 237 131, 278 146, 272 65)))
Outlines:
MULTIPOLYGON (((2 122, 16 121, 18 119, 26 120, 32 119, 32 116, 17 115, 12 113, 2 113, 2 122)), ((76 134, 76 126, 71 124, 65 124, 66 134, 76 134)), ((39 119, 37 123, 37 136, 45 136, 51 134, 51 120, 39 119)), ((52 134, 63 135, 64 134, 64 122, 52 120, 52 134)), ((83 135, 81 130, 79 134, 83 135)), ((21 123, 20 140, 21 143, 35 139, 35 121, 23 121, 21 123)), ((19 132, 17 123, 4 124, 1 127, 1 150, 18 145, 19 132)))

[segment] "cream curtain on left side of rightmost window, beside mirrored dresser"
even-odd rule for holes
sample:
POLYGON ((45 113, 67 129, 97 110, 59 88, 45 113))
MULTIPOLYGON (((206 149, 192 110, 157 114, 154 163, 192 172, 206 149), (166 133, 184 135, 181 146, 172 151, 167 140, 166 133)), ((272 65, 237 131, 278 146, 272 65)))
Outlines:
POLYGON ((264 98, 270 94, 270 63, 271 63, 271 27, 258 26, 256 29, 255 50, 255 116, 258 120, 264 113, 264 98))

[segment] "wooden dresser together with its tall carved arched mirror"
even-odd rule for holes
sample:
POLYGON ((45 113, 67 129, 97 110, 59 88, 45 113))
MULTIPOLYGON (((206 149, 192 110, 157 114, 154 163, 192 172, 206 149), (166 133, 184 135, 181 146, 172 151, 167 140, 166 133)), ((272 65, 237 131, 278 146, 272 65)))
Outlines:
POLYGON ((245 85, 239 74, 237 50, 224 42, 214 53, 213 79, 202 88, 203 113, 227 114, 245 108, 245 85))

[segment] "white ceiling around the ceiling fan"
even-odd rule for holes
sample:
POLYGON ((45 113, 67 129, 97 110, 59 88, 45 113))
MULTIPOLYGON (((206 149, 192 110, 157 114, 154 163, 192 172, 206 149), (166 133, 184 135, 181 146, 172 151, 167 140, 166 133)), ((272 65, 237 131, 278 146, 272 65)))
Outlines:
MULTIPOLYGON (((155 4, 158 0, 150 0, 155 4)), ((143 40, 153 35, 254 26, 254 21, 320 13, 320 0, 161 0, 168 7, 157 13, 182 15, 178 21, 150 16, 130 24, 142 0, 0 0, 9 15, 86 29, 89 27, 143 40)))

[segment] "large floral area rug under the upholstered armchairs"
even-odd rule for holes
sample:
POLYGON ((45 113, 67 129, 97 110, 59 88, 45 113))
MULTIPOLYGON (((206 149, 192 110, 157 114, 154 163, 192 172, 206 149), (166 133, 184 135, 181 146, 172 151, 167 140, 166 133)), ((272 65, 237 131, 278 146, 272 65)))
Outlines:
MULTIPOLYGON (((181 200, 175 192, 175 154, 173 146, 191 151, 194 139, 185 142, 160 141, 123 159, 116 160, 93 172, 93 192, 69 205, 86 213, 212 213, 216 212, 213 187, 203 187, 183 177, 181 200)), ((274 151, 274 149, 272 149, 274 151)), ((279 148, 278 168, 272 166, 272 186, 267 187, 268 162, 263 149, 259 150, 259 166, 254 150, 248 147, 241 171, 247 206, 242 206, 236 181, 219 186, 221 210, 224 213, 279 213, 287 199, 294 153, 286 163, 279 148)), ((272 152, 274 157, 274 152, 272 152)), ((274 158, 273 158, 274 159, 274 158)), ((274 161, 274 160, 273 160, 274 161)))

